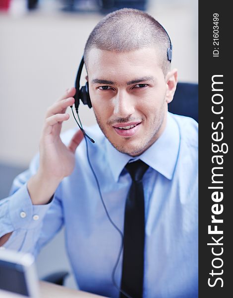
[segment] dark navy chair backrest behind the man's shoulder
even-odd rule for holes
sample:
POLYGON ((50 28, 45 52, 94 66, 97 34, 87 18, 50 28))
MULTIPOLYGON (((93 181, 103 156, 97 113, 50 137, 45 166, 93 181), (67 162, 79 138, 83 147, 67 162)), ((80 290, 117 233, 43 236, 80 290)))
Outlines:
POLYGON ((191 117, 198 122, 198 84, 177 83, 168 110, 174 114, 191 117))

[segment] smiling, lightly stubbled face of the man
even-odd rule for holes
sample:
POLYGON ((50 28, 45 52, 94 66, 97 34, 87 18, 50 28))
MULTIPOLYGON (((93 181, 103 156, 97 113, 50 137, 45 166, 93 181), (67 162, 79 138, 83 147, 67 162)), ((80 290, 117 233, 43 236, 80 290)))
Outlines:
POLYGON ((154 48, 90 50, 88 82, 97 122, 118 151, 139 155, 162 134, 171 100, 154 48))

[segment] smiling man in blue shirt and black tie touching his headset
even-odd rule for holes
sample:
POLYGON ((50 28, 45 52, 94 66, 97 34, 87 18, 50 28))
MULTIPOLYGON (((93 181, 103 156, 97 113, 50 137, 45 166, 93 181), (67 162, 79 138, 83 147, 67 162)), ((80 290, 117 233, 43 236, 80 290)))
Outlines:
POLYGON ((84 51, 95 144, 87 154, 79 130, 60 138, 70 88, 47 111, 40 156, 0 202, 5 247, 37 254, 65 224, 81 290, 198 297, 197 123, 168 113, 177 83, 168 49, 144 12, 121 9, 97 24, 84 51))

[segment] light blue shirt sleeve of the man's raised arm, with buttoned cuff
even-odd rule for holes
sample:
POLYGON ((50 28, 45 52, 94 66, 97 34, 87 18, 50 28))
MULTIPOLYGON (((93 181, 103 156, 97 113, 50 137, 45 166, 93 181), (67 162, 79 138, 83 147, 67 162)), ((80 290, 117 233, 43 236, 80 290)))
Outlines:
POLYGON ((3 247, 34 255, 63 224, 62 205, 56 193, 49 204, 32 204, 27 181, 36 172, 38 164, 37 155, 29 169, 14 179, 10 196, 0 200, 0 237, 12 232, 3 247))

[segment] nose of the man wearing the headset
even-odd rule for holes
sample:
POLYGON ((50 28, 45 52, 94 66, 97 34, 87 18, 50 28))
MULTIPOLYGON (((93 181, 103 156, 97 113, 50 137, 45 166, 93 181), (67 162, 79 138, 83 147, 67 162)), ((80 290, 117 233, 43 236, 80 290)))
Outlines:
POLYGON ((134 112, 135 109, 132 98, 130 98, 126 91, 118 91, 114 98, 114 115, 126 118, 134 112))

